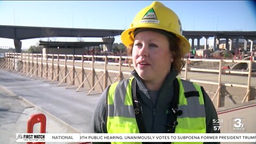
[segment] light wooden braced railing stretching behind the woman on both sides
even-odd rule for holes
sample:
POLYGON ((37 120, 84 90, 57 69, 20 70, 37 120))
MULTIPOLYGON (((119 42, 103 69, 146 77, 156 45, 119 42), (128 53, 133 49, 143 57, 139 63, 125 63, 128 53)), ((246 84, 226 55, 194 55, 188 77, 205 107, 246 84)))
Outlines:
MULTIPOLYGON (((102 92, 106 87, 114 82, 131 77, 132 68, 129 67, 129 59, 126 56, 105 56, 105 55, 70 55, 70 54, 32 54, 32 53, 5 53, 4 60, 0 61, 0 68, 18 73, 30 78, 40 78, 57 86, 65 85, 75 88, 76 92, 84 90, 87 95, 92 92, 102 92)), ((200 84, 214 85, 216 90, 212 95, 212 101, 216 107, 221 107, 221 88, 223 86, 242 87, 246 89, 246 94, 241 102, 255 99, 251 86, 252 65, 256 61, 252 60, 220 60, 220 59, 185 59, 186 65, 182 69, 181 78, 200 84), (218 67, 195 68, 191 63, 215 62, 218 67), (237 71, 223 69, 223 63, 248 63, 248 71, 237 71), (193 77, 193 72, 215 74, 218 78, 203 79, 193 77), (243 75, 247 76, 247 82, 243 84, 223 82, 222 75, 243 75), (192 76, 189 76, 192 75, 192 76), (190 78, 189 78, 190 77, 190 78), (218 79, 218 80, 217 80, 218 79)), ((245 77, 246 78, 246 77, 245 77)), ((207 90, 206 90, 207 91, 207 90)), ((208 91, 209 92, 209 91, 208 91)))

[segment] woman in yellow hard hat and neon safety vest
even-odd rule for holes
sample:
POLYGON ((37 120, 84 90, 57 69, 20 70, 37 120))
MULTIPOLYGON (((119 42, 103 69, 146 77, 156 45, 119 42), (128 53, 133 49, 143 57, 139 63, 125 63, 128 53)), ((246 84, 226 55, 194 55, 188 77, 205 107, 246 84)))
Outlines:
POLYGON ((121 39, 132 55, 133 77, 102 93, 94 133, 220 132, 213 129, 218 116, 203 87, 177 78, 190 44, 172 10, 153 2, 135 16, 121 39))

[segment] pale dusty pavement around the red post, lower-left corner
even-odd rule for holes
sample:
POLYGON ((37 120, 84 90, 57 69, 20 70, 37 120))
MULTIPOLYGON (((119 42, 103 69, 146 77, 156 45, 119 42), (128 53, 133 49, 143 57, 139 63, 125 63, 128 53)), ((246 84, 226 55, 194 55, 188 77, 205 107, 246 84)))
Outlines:
MULTIPOLYGON (((17 143, 16 133, 27 133, 28 118, 37 113, 43 113, 46 116, 46 133, 79 133, 47 111, 0 86, 0 143, 17 143)), ((36 124, 34 133, 39 133, 39 129, 39 124, 36 124)))

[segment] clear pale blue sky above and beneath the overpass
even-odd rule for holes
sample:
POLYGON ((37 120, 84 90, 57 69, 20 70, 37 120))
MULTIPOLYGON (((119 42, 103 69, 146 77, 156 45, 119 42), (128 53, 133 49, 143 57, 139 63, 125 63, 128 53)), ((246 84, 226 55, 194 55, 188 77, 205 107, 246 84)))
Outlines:
MULTIPOLYGON (((0 25, 126 29, 134 16, 153 1, 0 1, 0 25)), ((183 30, 256 31, 253 1, 159 1, 179 16, 183 30)), ((83 38, 84 41, 101 39, 83 38)), ((75 41, 54 38, 55 41, 75 41)), ((22 49, 39 39, 22 41, 22 49)), ((120 37, 116 37, 120 43, 120 37)), ((12 39, 0 38, 13 46, 12 39)))

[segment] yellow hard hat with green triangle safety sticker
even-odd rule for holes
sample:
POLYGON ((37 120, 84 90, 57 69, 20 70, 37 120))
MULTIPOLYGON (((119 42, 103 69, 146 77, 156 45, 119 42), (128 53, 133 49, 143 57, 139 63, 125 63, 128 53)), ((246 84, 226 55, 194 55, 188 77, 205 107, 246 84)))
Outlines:
POLYGON ((160 2, 153 2, 142 9, 133 19, 130 28, 123 31, 121 40, 125 46, 134 43, 134 30, 137 28, 156 28, 173 33, 180 38, 182 53, 190 51, 190 43, 182 36, 182 27, 178 15, 160 2))

